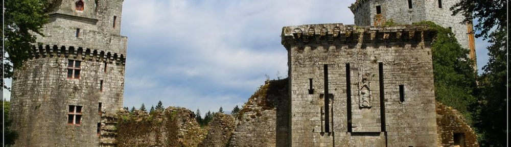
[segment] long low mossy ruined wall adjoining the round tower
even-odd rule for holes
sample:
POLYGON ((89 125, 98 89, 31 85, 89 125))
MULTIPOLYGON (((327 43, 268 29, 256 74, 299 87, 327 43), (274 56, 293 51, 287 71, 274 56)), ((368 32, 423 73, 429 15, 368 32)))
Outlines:
POLYGON ((135 111, 118 117, 122 119, 117 125, 117 146, 197 146, 207 133, 192 111, 180 107, 153 115, 135 111))

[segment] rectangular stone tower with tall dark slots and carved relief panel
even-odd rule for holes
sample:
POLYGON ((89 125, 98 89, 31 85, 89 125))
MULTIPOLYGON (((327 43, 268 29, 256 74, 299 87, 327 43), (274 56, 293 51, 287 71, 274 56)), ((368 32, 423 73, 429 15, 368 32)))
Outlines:
POLYGON ((284 27, 291 146, 436 146, 425 26, 284 27))

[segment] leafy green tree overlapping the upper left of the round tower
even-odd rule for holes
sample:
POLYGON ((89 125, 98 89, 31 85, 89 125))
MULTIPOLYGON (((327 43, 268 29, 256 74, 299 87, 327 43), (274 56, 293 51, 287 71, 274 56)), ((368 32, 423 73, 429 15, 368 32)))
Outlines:
MULTIPOLYGON (((44 0, 5 1, 4 78, 12 78, 12 69, 20 67, 29 59, 28 51, 36 41, 32 33, 43 35, 41 28, 49 21, 48 6, 44 0)), ((3 82, 2 85, 7 88, 3 82)))

